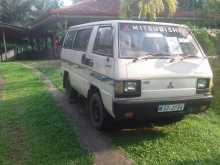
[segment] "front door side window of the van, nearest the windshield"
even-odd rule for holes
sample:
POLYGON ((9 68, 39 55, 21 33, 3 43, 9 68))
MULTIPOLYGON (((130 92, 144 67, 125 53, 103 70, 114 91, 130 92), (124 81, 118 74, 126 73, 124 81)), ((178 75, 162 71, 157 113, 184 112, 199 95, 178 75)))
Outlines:
POLYGON ((113 30, 111 26, 99 27, 93 52, 113 57, 113 30))

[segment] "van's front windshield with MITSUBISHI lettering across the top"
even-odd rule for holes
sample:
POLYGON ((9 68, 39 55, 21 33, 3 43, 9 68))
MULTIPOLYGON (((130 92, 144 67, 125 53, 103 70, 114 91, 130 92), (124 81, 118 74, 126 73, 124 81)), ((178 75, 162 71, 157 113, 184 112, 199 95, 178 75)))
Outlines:
POLYGON ((184 27, 133 23, 119 24, 119 54, 120 58, 203 56, 191 32, 184 27))

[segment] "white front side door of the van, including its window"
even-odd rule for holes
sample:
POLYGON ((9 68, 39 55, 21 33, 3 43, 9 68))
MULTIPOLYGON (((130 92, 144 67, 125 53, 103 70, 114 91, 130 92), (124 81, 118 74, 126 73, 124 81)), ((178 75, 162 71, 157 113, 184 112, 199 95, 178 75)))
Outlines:
POLYGON ((113 98, 113 27, 99 26, 92 49, 93 77, 101 89, 103 104, 112 113, 113 98))

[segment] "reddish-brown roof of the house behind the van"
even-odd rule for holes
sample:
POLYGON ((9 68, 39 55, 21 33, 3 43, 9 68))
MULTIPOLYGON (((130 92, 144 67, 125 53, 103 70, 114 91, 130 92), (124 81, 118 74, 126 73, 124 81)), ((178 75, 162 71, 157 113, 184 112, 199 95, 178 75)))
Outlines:
MULTIPOLYGON (((40 17, 33 24, 31 29, 34 31, 48 29, 56 23, 61 23, 65 28, 71 25, 81 24, 91 21, 119 19, 121 0, 83 0, 72 6, 54 9, 40 17)), ((133 1, 133 13, 137 15, 137 0, 133 1)), ((137 19, 134 17, 134 19, 137 19)), ((173 17, 167 17, 166 12, 158 18, 158 21, 166 22, 207 22, 210 24, 215 20, 220 24, 220 17, 210 15, 208 18, 201 18, 196 11, 177 10, 173 17)))

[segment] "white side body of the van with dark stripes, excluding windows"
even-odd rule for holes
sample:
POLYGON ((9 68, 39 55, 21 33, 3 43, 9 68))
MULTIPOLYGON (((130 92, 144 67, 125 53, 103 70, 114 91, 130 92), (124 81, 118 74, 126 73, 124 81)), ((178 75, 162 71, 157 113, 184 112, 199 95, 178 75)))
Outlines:
MULTIPOLYGON (((91 85, 96 86, 102 97, 104 107, 113 114, 113 71, 114 58, 110 58, 110 67, 105 67, 106 57, 93 54, 97 27, 94 26, 86 52, 73 49, 62 49, 62 69, 68 71, 72 87, 82 96, 87 98, 91 85), (94 62, 93 66, 82 64, 82 56, 94 62)), ((85 27, 84 27, 85 28, 85 27)))

